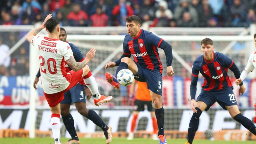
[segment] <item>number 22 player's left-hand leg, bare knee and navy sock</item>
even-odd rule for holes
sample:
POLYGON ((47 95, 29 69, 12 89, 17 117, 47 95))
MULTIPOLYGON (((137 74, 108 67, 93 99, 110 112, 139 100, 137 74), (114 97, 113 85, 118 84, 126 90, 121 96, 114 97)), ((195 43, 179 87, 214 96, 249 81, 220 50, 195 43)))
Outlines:
POLYGON ((194 113, 189 122, 188 138, 186 144, 192 144, 199 126, 199 117, 201 116, 202 112, 207 108, 207 105, 203 101, 195 102, 195 100, 191 100, 191 107, 194 113))

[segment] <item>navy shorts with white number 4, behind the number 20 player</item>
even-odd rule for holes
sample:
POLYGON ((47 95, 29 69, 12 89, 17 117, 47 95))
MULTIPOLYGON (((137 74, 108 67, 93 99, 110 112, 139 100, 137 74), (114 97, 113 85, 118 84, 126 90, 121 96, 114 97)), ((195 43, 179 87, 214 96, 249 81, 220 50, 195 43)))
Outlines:
POLYGON ((75 102, 86 102, 86 95, 84 93, 85 86, 82 84, 76 84, 69 91, 65 92, 64 100, 60 104, 73 104, 75 102))

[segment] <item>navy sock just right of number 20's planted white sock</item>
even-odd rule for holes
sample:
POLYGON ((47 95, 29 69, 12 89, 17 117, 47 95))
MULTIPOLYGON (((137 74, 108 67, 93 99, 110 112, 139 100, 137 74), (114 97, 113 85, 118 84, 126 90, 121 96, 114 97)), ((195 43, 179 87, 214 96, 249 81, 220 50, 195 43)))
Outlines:
POLYGON ((72 115, 69 113, 68 116, 62 116, 62 121, 68 131, 68 133, 70 134, 71 138, 74 140, 79 140, 76 134, 76 129, 74 126, 74 119, 72 117, 72 115))

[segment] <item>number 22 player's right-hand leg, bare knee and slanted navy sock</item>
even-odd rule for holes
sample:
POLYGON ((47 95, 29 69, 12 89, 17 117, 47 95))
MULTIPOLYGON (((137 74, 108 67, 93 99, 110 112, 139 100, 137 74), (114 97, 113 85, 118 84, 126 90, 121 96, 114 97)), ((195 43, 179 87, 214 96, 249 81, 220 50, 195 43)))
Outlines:
POLYGON ((256 135, 255 125, 252 123, 252 121, 250 119, 248 119, 247 117, 243 116, 240 113, 237 105, 226 106, 226 108, 234 120, 236 120, 238 123, 242 124, 247 130, 249 130, 254 135, 256 135))

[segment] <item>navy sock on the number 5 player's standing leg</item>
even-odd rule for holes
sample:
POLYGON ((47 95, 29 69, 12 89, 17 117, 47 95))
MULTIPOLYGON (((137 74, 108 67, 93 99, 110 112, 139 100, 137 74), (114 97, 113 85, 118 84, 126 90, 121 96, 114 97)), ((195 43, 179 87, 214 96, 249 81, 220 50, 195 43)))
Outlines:
POLYGON ((164 135, 164 107, 155 109, 158 135, 164 135))

